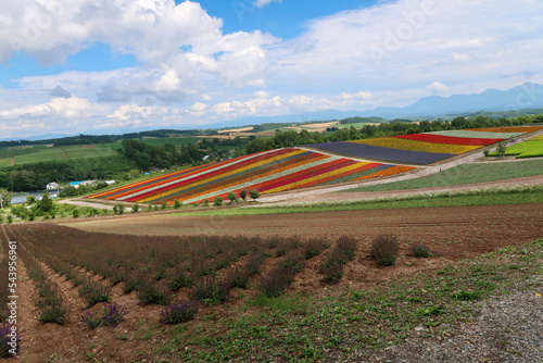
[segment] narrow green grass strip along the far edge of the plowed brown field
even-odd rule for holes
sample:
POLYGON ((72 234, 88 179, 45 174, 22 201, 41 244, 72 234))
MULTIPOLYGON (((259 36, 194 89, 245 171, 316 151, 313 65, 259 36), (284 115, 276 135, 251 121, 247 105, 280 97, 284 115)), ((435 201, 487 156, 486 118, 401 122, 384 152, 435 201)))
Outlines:
POLYGON ((238 209, 217 209, 207 211, 180 212, 173 215, 258 215, 307 212, 332 212, 374 209, 427 208, 427 206, 462 206, 462 205, 498 205, 543 203, 543 186, 513 188, 487 188, 473 190, 419 193, 402 197, 388 197, 355 201, 336 201, 320 203, 254 205, 238 209))

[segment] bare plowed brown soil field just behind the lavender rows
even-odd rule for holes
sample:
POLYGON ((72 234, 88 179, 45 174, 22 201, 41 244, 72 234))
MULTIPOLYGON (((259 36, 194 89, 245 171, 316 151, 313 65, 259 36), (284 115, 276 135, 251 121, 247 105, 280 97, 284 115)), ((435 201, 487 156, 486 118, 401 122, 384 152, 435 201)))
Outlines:
POLYGON ((245 235, 333 237, 369 243, 379 234, 425 242, 447 259, 464 259, 543 237, 543 205, 471 205, 235 216, 137 216, 70 223, 123 235, 245 235))

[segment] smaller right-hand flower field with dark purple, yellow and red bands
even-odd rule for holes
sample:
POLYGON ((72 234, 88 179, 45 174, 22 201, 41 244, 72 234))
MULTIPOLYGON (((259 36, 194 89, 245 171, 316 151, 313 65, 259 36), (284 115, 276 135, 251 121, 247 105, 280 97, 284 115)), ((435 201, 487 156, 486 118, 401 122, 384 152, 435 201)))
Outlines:
POLYGON ((444 130, 307 147, 377 161, 430 164, 542 128, 532 126, 444 130))

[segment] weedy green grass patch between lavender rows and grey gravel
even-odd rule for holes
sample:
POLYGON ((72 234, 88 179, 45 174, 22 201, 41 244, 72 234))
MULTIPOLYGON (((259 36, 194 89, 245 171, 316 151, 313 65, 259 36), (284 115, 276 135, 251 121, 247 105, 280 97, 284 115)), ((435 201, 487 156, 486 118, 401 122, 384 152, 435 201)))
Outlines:
POLYGON ((412 335, 442 335, 475 316, 477 302, 515 289, 541 288, 543 240, 506 248, 372 290, 324 298, 249 299, 239 311, 210 314, 168 334, 157 350, 184 362, 350 361, 401 345, 412 335), (416 328, 416 329, 415 329, 416 328))

